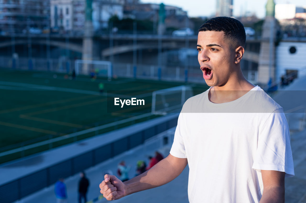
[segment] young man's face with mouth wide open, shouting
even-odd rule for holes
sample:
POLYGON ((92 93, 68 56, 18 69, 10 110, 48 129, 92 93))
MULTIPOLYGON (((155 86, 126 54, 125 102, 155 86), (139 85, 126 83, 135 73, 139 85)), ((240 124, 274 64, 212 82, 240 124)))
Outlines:
POLYGON ((199 32, 197 49, 206 84, 211 87, 225 85, 234 71, 235 50, 224 32, 199 32))

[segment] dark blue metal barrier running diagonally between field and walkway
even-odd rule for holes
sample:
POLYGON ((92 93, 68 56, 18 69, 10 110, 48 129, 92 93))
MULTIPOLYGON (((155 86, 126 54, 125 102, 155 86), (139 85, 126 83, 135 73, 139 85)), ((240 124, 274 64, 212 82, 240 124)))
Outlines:
POLYGON ((72 176, 84 169, 95 166, 100 162, 144 144, 147 139, 176 125, 177 117, 1 185, 0 202, 9 203, 21 199, 54 184, 59 177, 72 176))

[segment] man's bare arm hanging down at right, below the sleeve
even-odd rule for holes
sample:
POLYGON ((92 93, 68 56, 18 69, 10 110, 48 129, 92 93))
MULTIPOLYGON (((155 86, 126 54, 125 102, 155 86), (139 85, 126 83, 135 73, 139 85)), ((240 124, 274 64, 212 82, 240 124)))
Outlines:
POLYGON ((263 196, 259 203, 285 202, 285 172, 261 170, 263 196))

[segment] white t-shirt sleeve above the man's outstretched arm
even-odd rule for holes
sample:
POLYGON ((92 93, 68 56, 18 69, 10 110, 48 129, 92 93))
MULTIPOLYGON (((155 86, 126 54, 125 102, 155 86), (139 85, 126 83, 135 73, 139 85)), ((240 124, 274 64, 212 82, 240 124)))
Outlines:
POLYGON ((180 113, 177 120, 177 126, 174 133, 174 141, 170 150, 170 154, 177 158, 187 158, 183 136, 186 136, 186 123, 184 113, 180 113))

